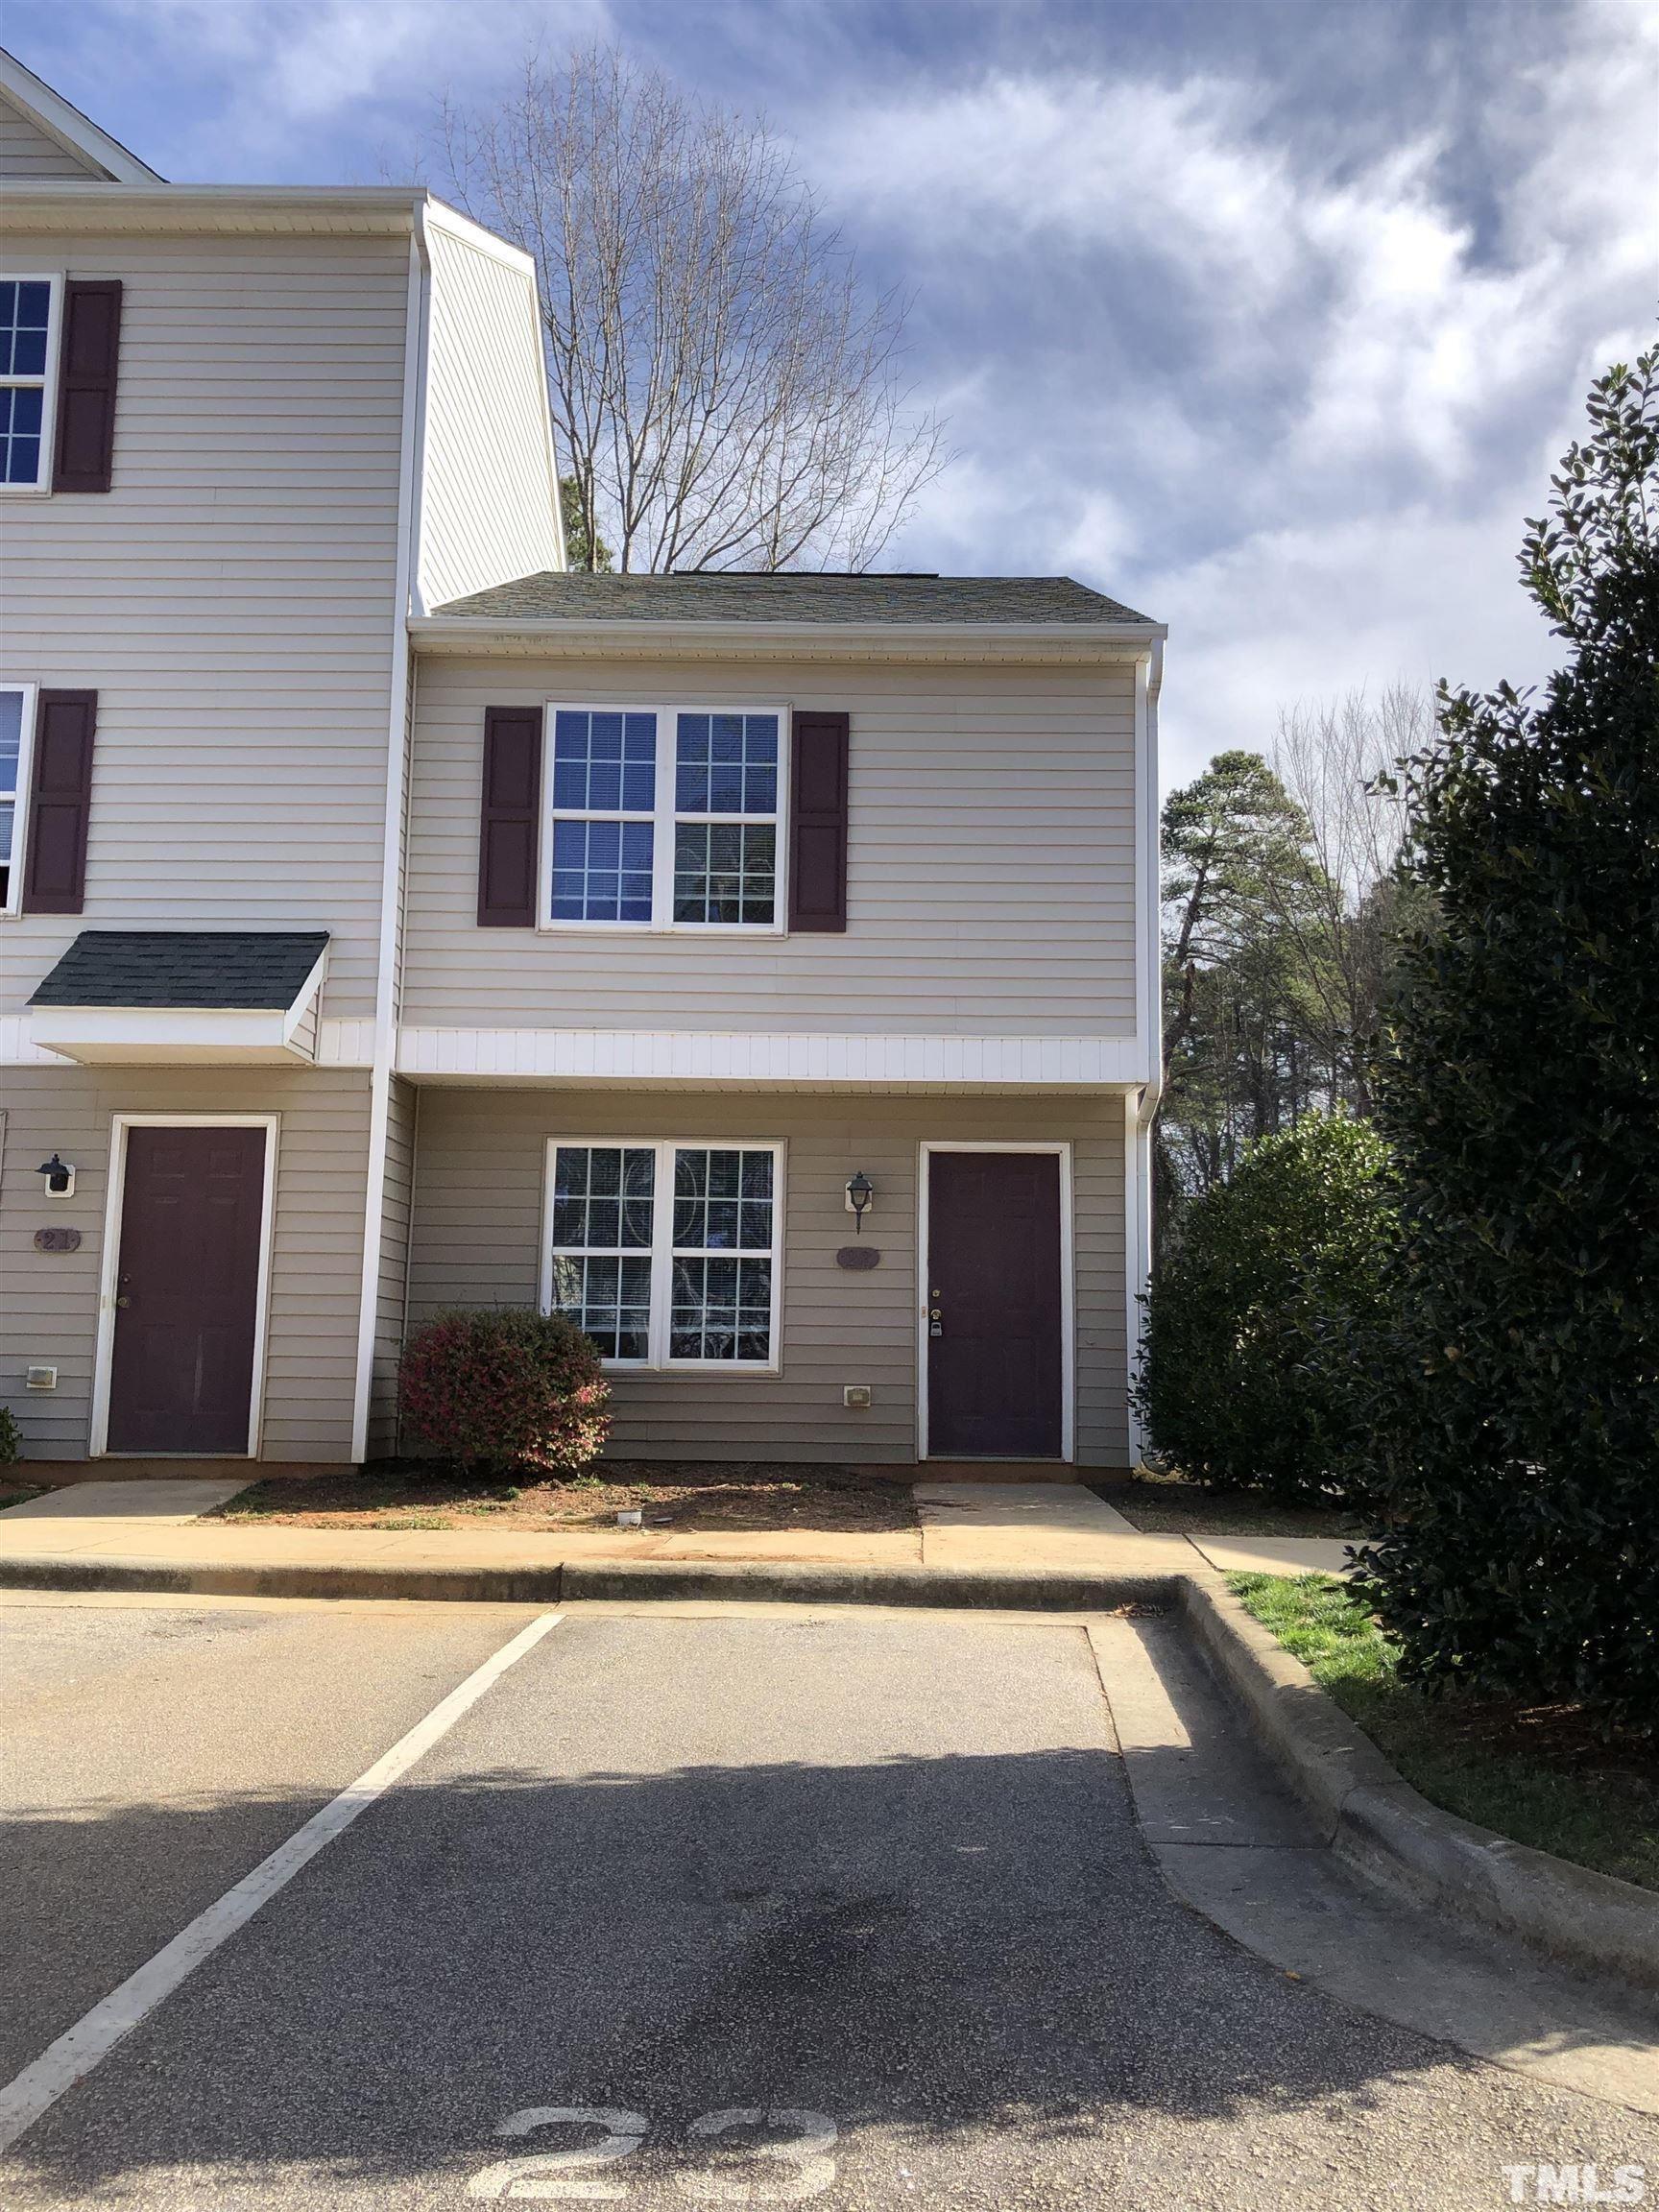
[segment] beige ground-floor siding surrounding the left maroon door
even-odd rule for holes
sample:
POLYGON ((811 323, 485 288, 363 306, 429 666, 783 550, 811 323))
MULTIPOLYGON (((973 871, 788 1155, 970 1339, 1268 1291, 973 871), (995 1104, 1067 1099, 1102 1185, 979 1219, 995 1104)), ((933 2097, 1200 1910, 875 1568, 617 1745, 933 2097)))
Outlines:
POLYGON ((369 1086, 363 1075, 296 1068, 4 1068, 0 1164, 0 1402, 24 1455, 86 1453, 97 1343, 104 1203, 115 1113, 274 1113, 276 1212, 265 1343, 265 1460, 347 1460, 369 1086), (33 1172, 58 1150, 75 1197, 42 1199, 33 1172), (77 1228, 77 1252, 35 1252, 38 1228, 77 1228), (24 1367, 58 1367, 46 1396, 24 1367))

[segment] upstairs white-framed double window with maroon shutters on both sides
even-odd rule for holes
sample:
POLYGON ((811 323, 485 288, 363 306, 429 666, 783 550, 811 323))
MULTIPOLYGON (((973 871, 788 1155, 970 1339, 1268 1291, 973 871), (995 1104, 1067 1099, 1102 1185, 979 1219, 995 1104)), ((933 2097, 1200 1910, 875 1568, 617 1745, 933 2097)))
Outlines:
POLYGON ((549 706, 544 929, 785 927, 783 708, 549 706))

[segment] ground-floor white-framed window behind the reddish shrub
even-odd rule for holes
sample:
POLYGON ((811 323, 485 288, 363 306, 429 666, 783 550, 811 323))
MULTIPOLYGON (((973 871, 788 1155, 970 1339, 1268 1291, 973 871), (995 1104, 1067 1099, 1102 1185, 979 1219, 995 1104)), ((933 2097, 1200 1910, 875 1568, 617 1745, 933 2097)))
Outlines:
POLYGON ((783 1146, 553 1137, 542 1310, 606 1367, 776 1374, 783 1146))

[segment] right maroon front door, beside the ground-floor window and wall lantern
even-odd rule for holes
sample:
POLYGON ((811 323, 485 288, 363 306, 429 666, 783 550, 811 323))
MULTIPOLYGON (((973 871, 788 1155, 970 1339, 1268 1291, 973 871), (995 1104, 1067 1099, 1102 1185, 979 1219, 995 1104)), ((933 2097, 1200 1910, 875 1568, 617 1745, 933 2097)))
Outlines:
POLYGON ((1060 1157, 931 1152, 927 1175, 927 1451, 1062 1451, 1060 1157))

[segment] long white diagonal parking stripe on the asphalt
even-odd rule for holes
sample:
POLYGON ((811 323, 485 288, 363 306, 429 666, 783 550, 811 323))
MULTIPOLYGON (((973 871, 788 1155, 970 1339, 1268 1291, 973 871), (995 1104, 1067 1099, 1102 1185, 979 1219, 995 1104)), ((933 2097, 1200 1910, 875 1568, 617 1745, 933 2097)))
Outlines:
POLYGON ((91 2013, 82 2013, 73 2028, 64 2028, 55 2044, 7 2081, 0 2090, 0 2152, 11 2150, 18 2137, 58 2104, 64 2090, 84 2079, 100 2059, 106 2059, 124 2035, 148 2017, 164 1997, 173 1995, 179 1982, 252 1920, 268 1898, 292 1882, 323 1845, 347 1829, 400 1774, 407 1774, 478 1703, 484 1690, 500 1681, 509 1666, 540 1644, 560 1619, 557 1613, 542 1613, 511 1644, 502 1644, 440 1705, 434 1705, 425 1721, 416 1721, 409 1734, 400 1736, 383 1759, 376 1759, 347 1790, 314 1812, 305 1827, 296 1827, 288 1843, 279 1845, 252 1874, 243 1874, 234 1889, 226 1889, 170 1944, 164 1944, 153 1960, 131 1973, 91 2013))

